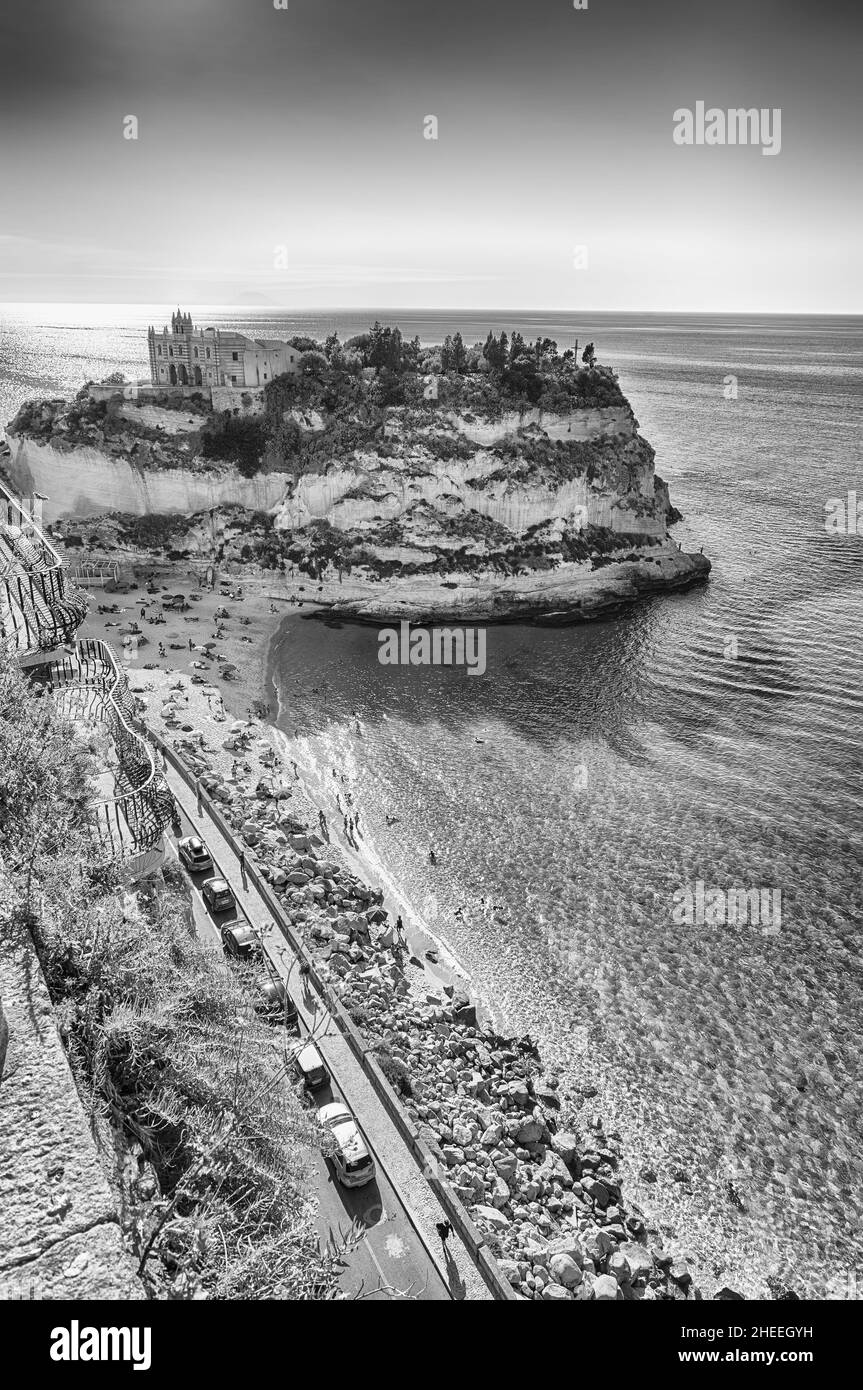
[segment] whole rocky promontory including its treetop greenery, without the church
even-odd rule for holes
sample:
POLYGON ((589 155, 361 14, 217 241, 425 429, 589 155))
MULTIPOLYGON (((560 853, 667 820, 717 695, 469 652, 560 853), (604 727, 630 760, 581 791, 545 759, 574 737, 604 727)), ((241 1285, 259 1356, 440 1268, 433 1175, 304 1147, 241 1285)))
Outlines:
POLYGON ((709 574, 592 345, 422 349, 379 324, 302 345, 263 414, 121 384, 31 403, 11 481, 67 541, 335 581, 320 602, 367 621, 574 621, 709 574))

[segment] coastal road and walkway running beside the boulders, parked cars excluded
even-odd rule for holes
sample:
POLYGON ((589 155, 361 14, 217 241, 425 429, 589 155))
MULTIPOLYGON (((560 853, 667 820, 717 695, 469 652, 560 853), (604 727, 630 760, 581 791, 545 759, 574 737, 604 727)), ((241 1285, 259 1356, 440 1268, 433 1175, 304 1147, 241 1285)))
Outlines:
MULTIPOLYGON (((364 1106, 357 1104, 356 1077, 345 1066, 340 1049, 334 1047, 334 1042, 338 1041, 347 1051, 343 1038, 314 992, 309 988, 303 990, 299 962, 274 926, 270 913, 260 899, 257 899, 256 910, 256 891, 253 888, 250 891, 243 890, 239 862, 228 842, 207 816, 202 817, 200 821, 197 820, 195 796, 170 764, 165 776, 171 791, 181 802, 181 834, 199 835, 210 849, 214 863, 214 869, 204 873, 192 874, 185 867, 182 869, 190 884, 195 929, 199 938, 221 954, 221 926, 242 919, 250 922, 258 931, 270 959, 285 980, 290 997, 296 1004, 300 1016, 300 1034, 307 1036, 314 1031, 315 1042, 320 1045, 332 1074, 332 1088, 317 1093, 314 1104, 320 1106, 332 1099, 343 1099, 357 1116, 368 1147, 374 1154, 377 1176, 365 1187, 357 1188, 342 1187, 329 1162, 322 1155, 318 1155, 317 1159, 318 1229, 321 1238, 327 1240, 332 1236, 338 1241, 339 1234, 347 1234, 353 1222, 364 1229, 361 1241, 345 1257, 343 1289, 354 1297, 361 1295, 370 1300, 386 1300, 399 1295, 421 1301, 464 1297, 456 1262, 452 1257, 445 1262, 439 1254, 441 1243, 434 1225, 431 1232, 432 1238, 428 1240, 427 1236, 431 1245, 429 1250, 418 1233, 417 1227, 420 1223, 389 1176, 386 1154, 382 1152, 382 1145, 375 1144, 377 1126, 367 1122, 364 1106), (181 795, 182 792, 185 792, 185 798, 181 795), (238 899, 235 910, 218 913, 217 917, 207 908, 200 891, 200 884, 214 874, 221 874, 221 877, 228 880, 238 899), (347 1076, 345 1074, 346 1072, 349 1073, 347 1076), (432 1254, 435 1243, 436 1251, 432 1254)), ((165 841, 170 853, 179 863, 175 837, 165 835, 165 841)), ((225 967, 229 969, 227 960, 225 967)), ((356 1070, 363 1076, 356 1059, 352 1056, 350 1059, 356 1070)), ((365 1077, 363 1077, 363 1081, 368 1087, 365 1077)), ((402 1145, 400 1140, 397 1143, 402 1145)), ((406 1158, 413 1165, 416 1177, 421 1182, 414 1161, 410 1155, 406 1155, 406 1158)), ((475 1277, 478 1279, 478 1276, 475 1277)), ((482 1286, 482 1290, 484 1294, 479 1294, 479 1297, 489 1297, 485 1286, 482 1286)), ((468 1294, 468 1297, 474 1295, 468 1294)))

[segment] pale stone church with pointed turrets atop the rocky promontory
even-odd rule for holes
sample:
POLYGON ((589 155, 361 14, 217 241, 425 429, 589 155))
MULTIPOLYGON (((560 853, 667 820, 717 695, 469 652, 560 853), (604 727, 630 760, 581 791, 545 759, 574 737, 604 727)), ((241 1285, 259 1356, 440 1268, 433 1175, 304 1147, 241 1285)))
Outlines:
POLYGON ((279 338, 246 338, 221 328, 196 328, 192 314, 171 314, 171 328, 147 331, 154 386, 265 386, 299 371, 300 352, 279 338))

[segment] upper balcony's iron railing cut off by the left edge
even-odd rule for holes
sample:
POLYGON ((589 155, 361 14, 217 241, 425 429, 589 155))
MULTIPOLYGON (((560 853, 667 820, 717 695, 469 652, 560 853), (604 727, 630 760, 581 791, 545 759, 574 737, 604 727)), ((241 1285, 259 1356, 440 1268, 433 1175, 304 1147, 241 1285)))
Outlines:
POLYGON ((0 639, 19 655, 51 652, 74 639, 88 606, 36 520, 0 482, 0 639))

